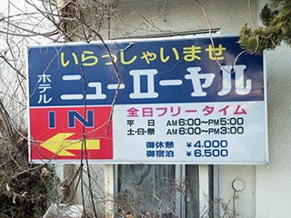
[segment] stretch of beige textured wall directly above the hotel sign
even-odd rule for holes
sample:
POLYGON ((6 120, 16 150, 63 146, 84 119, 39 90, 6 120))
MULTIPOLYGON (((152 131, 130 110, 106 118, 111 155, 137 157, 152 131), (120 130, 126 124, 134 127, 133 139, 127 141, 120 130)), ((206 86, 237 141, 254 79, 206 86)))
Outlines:
POLYGON ((186 31, 221 28, 223 34, 238 34, 241 26, 251 23, 250 12, 256 22, 256 1, 204 0, 115 0, 115 18, 111 24, 111 37, 135 35, 161 35, 186 31))

